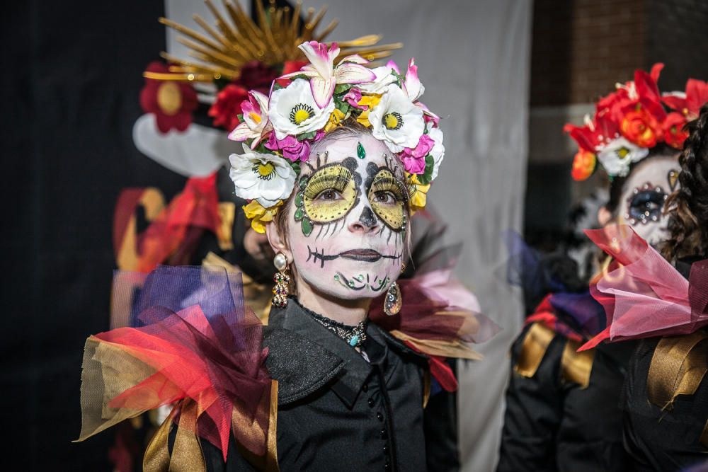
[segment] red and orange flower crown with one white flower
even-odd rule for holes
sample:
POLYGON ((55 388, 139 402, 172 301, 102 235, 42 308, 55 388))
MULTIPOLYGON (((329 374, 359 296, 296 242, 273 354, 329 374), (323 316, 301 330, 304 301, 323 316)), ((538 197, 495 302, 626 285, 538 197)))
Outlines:
POLYGON ((657 86, 661 69, 663 64, 654 64, 649 73, 636 70, 634 81, 617 84, 617 91, 595 103, 592 119, 586 115, 583 126, 564 126, 580 148, 573 159, 573 179, 586 180, 598 161, 610 178, 626 177, 632 163, 658 144, 683 147, 688 136, 684 125, 708 102, 708 84, 689 79, 685 93, 662 95, 657 86))

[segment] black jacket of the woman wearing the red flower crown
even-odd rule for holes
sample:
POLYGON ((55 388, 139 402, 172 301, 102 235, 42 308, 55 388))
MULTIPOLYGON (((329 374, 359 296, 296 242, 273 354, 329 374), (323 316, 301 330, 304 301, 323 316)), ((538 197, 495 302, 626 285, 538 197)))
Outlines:
POLYGON ((619 403, 632 343, 596 347, 588 385, 583 388, 564 379, 568 338, 557 333, 552 334, 534 375, 515 372, 531 326, 511 350, 497 471, 626 471, 619 403))

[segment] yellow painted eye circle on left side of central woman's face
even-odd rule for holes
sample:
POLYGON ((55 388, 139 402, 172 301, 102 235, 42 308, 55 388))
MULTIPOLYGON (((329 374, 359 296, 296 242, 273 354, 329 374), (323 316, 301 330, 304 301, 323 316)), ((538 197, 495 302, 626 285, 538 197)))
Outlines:
POLYGON ((346 217, 356 200, 354 175, 341 164, 320 168, 309 177, 302 192, 304 212, 314 223, 346 217))

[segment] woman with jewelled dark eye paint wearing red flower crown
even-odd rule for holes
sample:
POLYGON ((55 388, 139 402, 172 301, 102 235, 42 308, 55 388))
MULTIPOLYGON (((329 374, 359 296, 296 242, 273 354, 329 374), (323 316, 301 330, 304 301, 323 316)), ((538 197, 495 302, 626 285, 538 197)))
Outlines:
MULTIPOLYGON (((651 244, 667 236, 663 206, 678 186, 685 139, 685 117, 671 111, 676 94, 667 100, 656 86, 661 67, 636 71, 634 81, 598 101, 583 127, 566 126, 580 146, 573 178, 588 178, 598 161, 610 176, 600 224, 628 224, 651 244)), ((576 277, 552 279, 554 290, 512 347, 498 470, 627 470, 619 395, 634 346, 576 352, 605 328, 605 313, 576 277)))

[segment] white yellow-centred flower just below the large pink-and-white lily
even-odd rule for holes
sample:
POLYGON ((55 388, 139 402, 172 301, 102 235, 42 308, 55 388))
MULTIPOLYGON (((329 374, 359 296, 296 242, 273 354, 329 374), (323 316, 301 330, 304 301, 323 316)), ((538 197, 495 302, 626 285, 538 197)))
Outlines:
POLYGON ((334 100, 319 108, 312 96, 309 81, 295 79, 285 88, 273 91, 268 104, 268 119, 275 130, 275 137, 318 131, 324 128, 334 110, 334 100))

